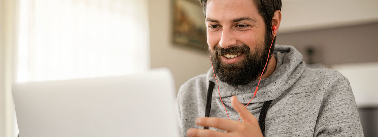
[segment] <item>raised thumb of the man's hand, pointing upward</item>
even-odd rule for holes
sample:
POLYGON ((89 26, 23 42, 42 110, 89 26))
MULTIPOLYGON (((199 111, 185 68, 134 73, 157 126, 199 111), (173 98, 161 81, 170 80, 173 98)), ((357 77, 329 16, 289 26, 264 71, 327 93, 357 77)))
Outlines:
POLYGON ((239 115, 242 117, 243 122, 249 122, 253 125, 259 125, 256 117, 253 116, 253 114, 249 112, 249 110, 245 108, 245 106, 237 100, 236 96, 231 97, 231 103, 232 107, 234 107, 234 110, 237 111, 239 115))

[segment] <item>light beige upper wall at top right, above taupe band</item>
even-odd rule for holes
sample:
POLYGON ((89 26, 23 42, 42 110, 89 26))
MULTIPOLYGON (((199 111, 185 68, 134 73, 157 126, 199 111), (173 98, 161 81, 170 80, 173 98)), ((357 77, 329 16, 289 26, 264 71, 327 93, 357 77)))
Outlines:
POLYGON ((378 21, 377 0, 282 0, 283 33, 378 21))

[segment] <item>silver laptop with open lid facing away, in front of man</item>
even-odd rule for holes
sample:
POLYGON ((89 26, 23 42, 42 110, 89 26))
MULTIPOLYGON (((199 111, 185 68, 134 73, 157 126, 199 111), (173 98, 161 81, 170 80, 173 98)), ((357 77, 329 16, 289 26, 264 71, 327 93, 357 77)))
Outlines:
POLYGON ((12 87, 20 137, 177 137, 168 69, 12 87))

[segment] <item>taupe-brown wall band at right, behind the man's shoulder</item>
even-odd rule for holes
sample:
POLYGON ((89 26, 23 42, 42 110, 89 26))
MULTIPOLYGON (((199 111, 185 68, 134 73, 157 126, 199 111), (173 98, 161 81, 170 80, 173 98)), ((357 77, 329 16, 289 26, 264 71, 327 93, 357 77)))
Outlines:
POLYGON ((314 47, 314 62, 327 66, 378 62, 378 23, 280 34, 276 44, 293 45, 308 62, 307 47, 314 47))

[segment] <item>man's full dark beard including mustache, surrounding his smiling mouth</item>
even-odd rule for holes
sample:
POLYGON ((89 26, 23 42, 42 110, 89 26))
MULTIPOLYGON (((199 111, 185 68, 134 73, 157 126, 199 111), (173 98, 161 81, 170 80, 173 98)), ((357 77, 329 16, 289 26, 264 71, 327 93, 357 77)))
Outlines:
MULTIPOLYGON (((270 36, 270 35, 268 35, 270 36)), ((214 53, 209 50, 217 78, 222 82, 232 86, 245 85, 260 77, 266 59, 268 59, 268 51, 270 42, 260 42, 252 52, 247 45, 234 46, 227 49, 215 47, 214 53), (244 54, 244 59, 233 64, 227 64, 220 59, 224 54, 244 54)), ((269 39, 269 38, 268 38, 269 39)), ((271 53, 273 53, 273 45, 271 53)), ((270 57, 272 54, 270 54, 270 57)), ((270 58, 269 57, 269 58, 270 58)), ((263 73, 268 69, 268 65, 263 73)))

